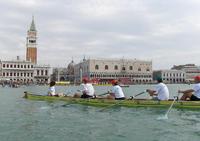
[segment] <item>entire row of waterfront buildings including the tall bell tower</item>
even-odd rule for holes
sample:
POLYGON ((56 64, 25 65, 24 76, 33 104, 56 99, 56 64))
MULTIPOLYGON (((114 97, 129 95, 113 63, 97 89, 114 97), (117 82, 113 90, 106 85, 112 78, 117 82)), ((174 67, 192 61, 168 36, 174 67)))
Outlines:
POLYGON ((166 83, 190 83, 200 75, 200 67, 194 64, 173 66, 169 70, 153 71, 152 61, 137 59, 83 59, 79 63, 72 60, 66 68, 53 68, 40 65, 37 59, 37 30, 32 19, 26 37, 26 58, 0 60, 0 82, 21 84, 47 84, 50 80, 70 81, 73 84, 88 78, 97 84, 107 84, 118 79, 124 84, 154 83, 161 77, 166 83))

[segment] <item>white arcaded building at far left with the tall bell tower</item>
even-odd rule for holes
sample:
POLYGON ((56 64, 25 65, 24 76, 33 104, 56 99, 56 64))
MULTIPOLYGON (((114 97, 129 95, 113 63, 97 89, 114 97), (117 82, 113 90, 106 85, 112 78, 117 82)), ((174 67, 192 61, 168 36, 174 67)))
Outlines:
POLYGON ((46 84, 50 81, 50 65, 37 63, 37 30, 32 19, 26 38, 26 59, 0 60, 0 82, 46 84))

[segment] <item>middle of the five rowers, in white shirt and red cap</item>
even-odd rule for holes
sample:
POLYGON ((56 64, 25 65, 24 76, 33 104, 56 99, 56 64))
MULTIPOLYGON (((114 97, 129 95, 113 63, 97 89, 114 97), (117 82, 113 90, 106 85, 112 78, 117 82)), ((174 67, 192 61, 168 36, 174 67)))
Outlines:
POLYGON ((111 81, 113 87, 110 92, 110 95, 115 98, 115 100, 124 100, 124 92, 122 91, 122 88, 119 86, 119 83, 117 80, 112 80, 111 81))

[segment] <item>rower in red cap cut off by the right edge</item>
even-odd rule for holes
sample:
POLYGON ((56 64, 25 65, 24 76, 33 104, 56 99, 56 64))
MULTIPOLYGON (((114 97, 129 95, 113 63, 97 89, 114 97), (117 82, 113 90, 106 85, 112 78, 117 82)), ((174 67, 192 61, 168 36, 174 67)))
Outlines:
POLYGON ((192 89, 178 90, 178 93, 183 93, 181 100, 200 101, 200 76, 194 77, 195 85, 192 89))

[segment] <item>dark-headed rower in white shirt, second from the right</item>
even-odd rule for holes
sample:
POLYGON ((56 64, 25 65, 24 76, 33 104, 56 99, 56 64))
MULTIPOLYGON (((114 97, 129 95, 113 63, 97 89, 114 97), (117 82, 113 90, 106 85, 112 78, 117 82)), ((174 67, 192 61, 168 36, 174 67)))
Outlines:
POLYGON ((152 96, 153 100, 168 100, 169 99, 169 90, 167 85, 165 85, 162 81, 161 77, 157 78, 157 85, 156 87, 151 90, 147 89, 146 91, 152 96))

